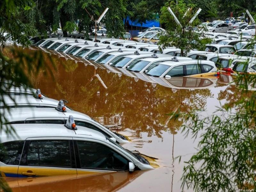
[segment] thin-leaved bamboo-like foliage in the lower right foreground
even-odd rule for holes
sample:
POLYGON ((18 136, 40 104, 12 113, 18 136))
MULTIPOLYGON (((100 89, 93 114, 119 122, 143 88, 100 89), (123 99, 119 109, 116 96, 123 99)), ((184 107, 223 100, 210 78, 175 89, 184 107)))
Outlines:
POLYGON ((256 190, 256 92, 248 91, 248 86, 255 87, 256 76, 239 75, 234 81, 244 91, 211 116, 176 114, 176 118, 183 116, 187 122, 184 132, 200 137, 197 153, 184 166, 183 189, 256 190))

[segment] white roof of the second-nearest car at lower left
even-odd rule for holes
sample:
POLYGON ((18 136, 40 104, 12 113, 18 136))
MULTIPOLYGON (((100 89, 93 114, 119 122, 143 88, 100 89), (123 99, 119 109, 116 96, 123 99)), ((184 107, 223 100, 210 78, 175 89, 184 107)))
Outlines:
POLYGON ((5 112, 8 122, 25 121, 28 118, 68 118, 70 115, 74 118, 92 121, 90 116, 72 110, 67 110, 67 112, 61 112, 55 108, 40 108, 40 111, 37 108, 10 108, 8 112, 7 109, 0 110, 5 112))

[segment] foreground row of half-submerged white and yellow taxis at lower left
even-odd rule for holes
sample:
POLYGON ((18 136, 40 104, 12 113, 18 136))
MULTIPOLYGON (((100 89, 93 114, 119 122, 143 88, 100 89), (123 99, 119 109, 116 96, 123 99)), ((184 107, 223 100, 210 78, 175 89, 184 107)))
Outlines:
POLYGON ((89 176, 158 167, 154 158, 123 148, 128 137, 72 110, 66 100, 9 82, 1 86, 11 87, 0 103, 1 130, 15 132, 0 133, 1 177, 89 176))

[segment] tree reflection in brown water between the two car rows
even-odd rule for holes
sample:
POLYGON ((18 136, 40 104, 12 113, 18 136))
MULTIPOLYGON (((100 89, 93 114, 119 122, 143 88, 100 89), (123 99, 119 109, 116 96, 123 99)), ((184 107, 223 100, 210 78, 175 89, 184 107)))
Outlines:
POLYGON ((167 87, 157 85, 154 88, 151 83, 141 80, 134 82, 130 77, 119 77, 114 73, 108 74, 104 69, 97 69, 96 73, 108 87, 106 89, 98 78, 92 78, 95 76, 93 66, 85 67, 83 63, 75 64, 72 61, 73 65, 65 59, 60 62, 54 73, 57 83, 43 78, 35 80, 44 94, 58 100, 66 99, 69 107, 89 116, 103 117, 104 124, 121 123, 123 129, 130 128, 138 136, 140 132, 148 132, 148 136, 161 138, 162 131, 173 133, 183 121, 168 120, 167 114, 177 107, 185 113, 203 109, 206 98, 212 96, 209 89, 177 90, 174 93, 167 87))

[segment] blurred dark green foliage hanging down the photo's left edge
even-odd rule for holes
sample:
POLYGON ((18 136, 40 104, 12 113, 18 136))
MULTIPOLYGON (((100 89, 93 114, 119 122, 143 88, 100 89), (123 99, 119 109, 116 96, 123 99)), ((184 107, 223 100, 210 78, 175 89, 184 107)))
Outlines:
MULTIPOLYGON (((45 56, 43 52, 24 52, 22 48, 11 47, 9 55, 4 54, 4 45, 8 38, 17 40, 17 43, 23 47, 31 44, 30 36, 35 36, 37 30, 31 20, 31 11, 36 4, 32 0, 8 0, 0 2, 0 103, 6 105, 3 97, 9 96, 12 99, 10 89, 13 86, 29 89, 32 85, 30 76, 36 76, 44 69, 44 75, 52 74, 54 67, 52 59, 45 56), (50 62, 47 62, 50 61, 50 62), (47 64, 48 63, 48 64, 47 64)), ((7 110, 8 106, 5 106, 7 110)), ((0 132, 9 132, 15 134, 12 126, 3 125, 5 114, 0 112, 0 132)), ((0 138, 1 139, 1 138, 0 138)), ((1 150, 1 149, 0 149, 1 150)), ((0 190, 11 191, 4 180, 0 179, 0 190)))

